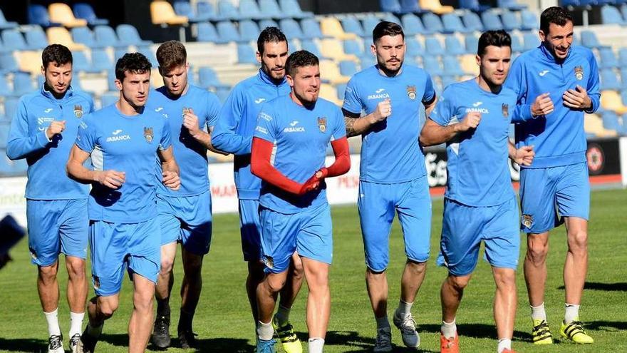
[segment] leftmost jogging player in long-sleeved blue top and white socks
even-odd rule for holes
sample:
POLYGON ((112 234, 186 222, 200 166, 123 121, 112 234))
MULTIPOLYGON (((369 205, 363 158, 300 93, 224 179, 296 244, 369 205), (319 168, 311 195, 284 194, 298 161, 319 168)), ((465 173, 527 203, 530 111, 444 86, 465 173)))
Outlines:
POLYGON ((58 257, 68 270, 70 350, 76 352, 87 300, 85 258, 89 219, 88 185, 68 178, 63 169, 83 115, 93 110, 91 97, 75 91, 72 53, 52 44, 41 54, 43 86, 20 98, 11 121, 6 155, 28 162, 26 220, 28 247, 37 265, 37 290, 48 322, 48 352, 61 353, 63 334, 58 324, 58 257))

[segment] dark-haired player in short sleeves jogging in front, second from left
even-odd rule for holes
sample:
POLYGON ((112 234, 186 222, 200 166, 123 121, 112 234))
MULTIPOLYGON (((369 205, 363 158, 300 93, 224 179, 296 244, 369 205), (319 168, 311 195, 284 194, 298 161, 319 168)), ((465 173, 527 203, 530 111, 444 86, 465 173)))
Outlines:
POLYGON ((115 64, 115 78, 120 100, 83 120, 67 165, 73 178, 93 186, 88 210, 95 297, 88 302, 82 352, 94 351, 105 320, 118 309, 125 270, 133 280, 128 352, 145 351, 160 265, 157 155, 163 170, 158 181, 172 190, 180 188, 170 126, 159 113, 144 109, 150 61, 140 53, 126 53, 115 64), (93 170, 83 166, 90 156, 93 170))

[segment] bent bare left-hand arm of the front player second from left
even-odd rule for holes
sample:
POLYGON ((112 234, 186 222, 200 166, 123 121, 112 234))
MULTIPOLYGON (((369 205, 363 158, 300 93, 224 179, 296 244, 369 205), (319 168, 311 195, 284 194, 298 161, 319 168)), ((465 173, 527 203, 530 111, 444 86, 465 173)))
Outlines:
POLYGON ((77 145, 72 147, 70 158, 66 165, 66 171, 70 178, 81 183, 99 183, 107 188, 118 189, 125 181, 125 173, 117 170, 89 170, 83 163, 89 158, 89 153, 77 145))

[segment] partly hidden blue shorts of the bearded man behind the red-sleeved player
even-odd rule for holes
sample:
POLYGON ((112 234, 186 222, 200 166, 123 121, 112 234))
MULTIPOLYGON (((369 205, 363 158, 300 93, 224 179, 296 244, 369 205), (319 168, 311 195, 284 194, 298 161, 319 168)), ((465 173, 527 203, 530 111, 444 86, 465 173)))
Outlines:
POLYGON ((239 232, 244 261, 262 260, 259 200, 239 200, 239 232))

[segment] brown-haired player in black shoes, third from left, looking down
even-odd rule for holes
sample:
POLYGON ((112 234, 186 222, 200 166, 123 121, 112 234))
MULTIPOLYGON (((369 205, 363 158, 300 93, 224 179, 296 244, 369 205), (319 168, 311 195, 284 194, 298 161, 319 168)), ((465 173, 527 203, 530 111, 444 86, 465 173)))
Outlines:
MULTIPOLYGON (((187 51, 179 41, 167 41, 157 48, 157 61, 164 86, 150 93, 146 108, 169 122, 172 149, 181 170, 181 188, 173 191, 157 184, 161 270, 155 287, 157 317, 152 343, 160 348, 170 346, 172 267, 180 242, 184 275, 177 333, 181 347, 190 348, 195 344, 192 319, 202 289, 202 259, 211 243, 207 148, 212 148, 210 133, 220 106, 213 93, 187 82, 187 51)), ((157 178, 161 173, 157 168, 157 178)))

